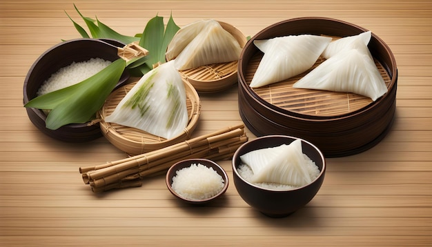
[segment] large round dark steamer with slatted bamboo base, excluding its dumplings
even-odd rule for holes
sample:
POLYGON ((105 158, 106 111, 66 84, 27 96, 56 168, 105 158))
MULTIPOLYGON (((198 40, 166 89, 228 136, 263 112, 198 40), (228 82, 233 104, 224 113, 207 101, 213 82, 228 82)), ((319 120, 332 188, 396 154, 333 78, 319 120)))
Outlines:
MULTIPOLYGON (((367 31, 336 19, 303 17, 275 23, 258 32, 239 59, 239 112, 257 135, 295 135, 317 145, 326 157, 354 155, 375 146, 389 131, 395 116, 397 67, 390 48, 372 34, 369 50, 388 92, 371 101, 353 93, 292 88, 302 75, 262 88, 250 88, 262 52, 254 40, 316 34, 334 39, 367 31)), ((320 58, 315 68, 324 61, 320 58)))

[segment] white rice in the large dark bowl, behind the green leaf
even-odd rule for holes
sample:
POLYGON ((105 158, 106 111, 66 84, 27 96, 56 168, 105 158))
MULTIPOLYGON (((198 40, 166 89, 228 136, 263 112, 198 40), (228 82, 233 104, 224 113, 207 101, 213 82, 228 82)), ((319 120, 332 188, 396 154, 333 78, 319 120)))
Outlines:
POLYGON ((69 66, 60 68, 57 72, 51 75, 44 81, 37 91, 37 95, 45 95, 48 92, 53 92, 61 88, 72 86, 76 83, 84 81, 88 77, 92 77, 97 72, 110 65, 111 61, 101 58, 91 58, 88 61, 72 62, 69 66))

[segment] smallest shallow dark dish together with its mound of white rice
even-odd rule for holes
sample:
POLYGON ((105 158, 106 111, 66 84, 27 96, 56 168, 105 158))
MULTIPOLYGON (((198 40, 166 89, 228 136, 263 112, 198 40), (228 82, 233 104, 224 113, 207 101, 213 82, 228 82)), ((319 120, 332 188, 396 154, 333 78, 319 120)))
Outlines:
POLYGON ((166 186, 181 201, 206 204, 226 192, 228 175, 209 159, 185 159, 168 169, 166 186))

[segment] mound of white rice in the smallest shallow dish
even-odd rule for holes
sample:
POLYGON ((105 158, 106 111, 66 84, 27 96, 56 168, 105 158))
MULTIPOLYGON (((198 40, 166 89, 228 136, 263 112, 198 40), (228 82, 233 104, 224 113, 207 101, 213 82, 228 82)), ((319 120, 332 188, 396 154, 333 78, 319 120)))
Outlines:
POLYGON ((208 199, 224 188, 224 179, 211 167, 191 164, 176 171, 171 187, 186 199, 208 199))

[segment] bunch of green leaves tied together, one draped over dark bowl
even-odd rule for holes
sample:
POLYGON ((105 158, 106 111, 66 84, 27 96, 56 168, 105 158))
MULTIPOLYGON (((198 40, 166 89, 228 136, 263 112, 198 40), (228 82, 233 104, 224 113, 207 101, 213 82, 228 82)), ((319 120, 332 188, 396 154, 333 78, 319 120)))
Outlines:
MULTIPOLYGON (((135 37, 126 36, 109 28, 97 18, 85 17, 79 12, 75 4, 74 8, 86 23, 92 39, 115 39, 126 43, 127 45, 124 48, 139 42, 141 48, 145 48, 143 50, 148 50, 149 55, 145 52, 144 57, 132 56, 126 61, 123 58, 117 59, 110 66, 84 81, 41 95, 26 103, 26 108, 49 110, 46 118, 46 128, 50 130, 57 130, 67 124, 82 124, 94 119, 95 112, 103 106, 104 101, 115 88, 124 70, 127 69, 132 76, 142 77, 150 70, 153 70, 155 64, 165 63, 166 46, 179 30, 172 15, 168 20, 166 29, 164 18, 156 16, 148 21, 141 34, 137 34, 135 37)), ((67 12, 66 15, 82 37, 90 38, 88 32, 75 22, 67 12)))

